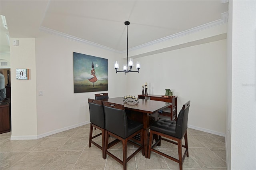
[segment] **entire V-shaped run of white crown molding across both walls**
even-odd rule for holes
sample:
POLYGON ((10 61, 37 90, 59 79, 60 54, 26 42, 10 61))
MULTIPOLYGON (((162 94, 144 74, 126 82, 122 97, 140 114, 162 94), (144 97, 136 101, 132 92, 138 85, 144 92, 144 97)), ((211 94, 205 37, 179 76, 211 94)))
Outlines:
MULTIPOLYGON (((138 45, 136 47, 132 47, 132 48, 128 49, 128 51, 132 51, 132 50, 140 49, 142 47, 146 47, 146 46, 149 46, 149 45, 154 45, 156 43, 161 43, 161 42, 164 42, 164 41, 172 40, 174 38, 186 36, 187 34, 192 34, 194 32, 198 32, 198 31, 201 31, 201 30, 204 30, 204 29, 207 29, 207 28, 211 28, 211 27, 218 26, 218 25, 221 25, 221 24, 226 24, 227 22, 228 22, 228 12, 224 12, 224 13, 221 14, 221 19, 219 19, 219 20, 209 22, 207 24, 203 24, 203 25, 195 27, 195 28, 191 28, 191 29, 183 31, 183 32, 179 32, 179 33, 173 34, 171 36, 160 38, 160 39, 154 40, 152 42, 144 43, 144 44, 138 45)), ((81 38, 77 38, 75 36, 70 36, 68 34, 58 32, 56 30, 52 30, 50 28, 46 28, 46 27, 43 27, 43 26, 41 26, 39 28, 39 30, 42 31, 42 32, 46 32, 46 33, 49 33, 49 34, 54 34, 56 36, 60 36, 60 37, 63 37, 63 38, 74 40, 74 41, 77 41, 77 42, 82 42, 82 43, 87 43, 87 44, 90 44, 90 45, 94 45, 96 47, 100 47, 100 48, 104 48, 104 49, 107 49, 107 50, 110 50, 110 51, 114 51, 116 53, 126 52, 126 50, 119 51, 119 50, 116 50, 116 49, 112 49, 110 47, 106 47, 106 46, 100 45, 98 43, 94 43, 94 42, 90 42, 90 41, 87 41, 87 40, 84 40, 84 39, 81 39, 81 38)))

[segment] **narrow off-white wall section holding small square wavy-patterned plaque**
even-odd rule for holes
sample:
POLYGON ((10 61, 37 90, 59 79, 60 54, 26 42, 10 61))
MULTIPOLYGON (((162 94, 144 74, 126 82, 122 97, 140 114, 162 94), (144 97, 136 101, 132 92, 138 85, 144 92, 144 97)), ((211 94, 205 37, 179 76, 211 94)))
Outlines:
MULTIPOLYGON (((10 38, 12 42, 14 38, 10 38)), ((36 138, 36 55, 34 38, 18 38, 19 46, 10 46, 12 140, 36 138), (16 69, 29 69, 28 80, 16 80, 16 69)))

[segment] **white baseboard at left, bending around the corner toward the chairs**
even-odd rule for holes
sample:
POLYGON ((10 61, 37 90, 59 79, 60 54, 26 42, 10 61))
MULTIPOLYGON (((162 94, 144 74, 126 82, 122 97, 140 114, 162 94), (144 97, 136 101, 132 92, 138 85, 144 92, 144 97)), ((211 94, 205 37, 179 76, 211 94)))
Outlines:
POLYGON ((59 133, 59 132, 70 130, 72 128, 76 128, 76 127, 80 127, 80 126, 83 126, 83 125, 87 125, 89 123, 90 123, 90 121, 86 121, 86 122, 78 123, 76 125, 72 125, 72 126, 69 126, 69 127, 64 127, 64 128, 60 128, 60 129, 57 129, 57 130, 52 130, 50 132, 46 132, 46 133, 39 134, 39 135, 11 136, 11 140, 36 140, 36 139, 43 138, 43 137, 46 137, 46 136, 49 136, 49 135, 52 135, 52 134, 56 134, 56 133, 59 133))

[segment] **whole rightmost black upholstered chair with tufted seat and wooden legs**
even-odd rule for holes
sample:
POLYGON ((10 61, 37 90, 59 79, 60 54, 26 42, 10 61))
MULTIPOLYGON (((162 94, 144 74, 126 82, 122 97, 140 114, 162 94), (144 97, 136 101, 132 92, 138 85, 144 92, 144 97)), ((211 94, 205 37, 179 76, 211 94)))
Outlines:
POLYGON ((185 155, 188 157, 187 128, 188 128, 189 107, 190 107, 190 101, 188 101, 183 105, 178 115, 177 122, 166 120, 166 119, 159 119, 158 121, 154 122, 150 126, 148 158, 150 158, 151 151, 156 152, 162 156, 165 156, 166 158, 169 158, 171 160, 174 160, 175 162, 178 162, 180 164, 180 170, 182 170, 182 164, 184 162, 185 155), (158 135, 159 139, 151 147, 154 134, 158 135), (165 138, 162 138, 162 136, 165 138), (171 140, 166 138, 169 138, 171 140), (183 138, 185 140, 185 145, 182 144, 183 138), (179 155, 178 159, 154 149, 154 146, 161 143, 161 139, 178 145, 178 155, 179 155), (174 142, 173 140, 176 142, 174 142), (184 155, 182 155, 182 147, 186 148, 184 155))

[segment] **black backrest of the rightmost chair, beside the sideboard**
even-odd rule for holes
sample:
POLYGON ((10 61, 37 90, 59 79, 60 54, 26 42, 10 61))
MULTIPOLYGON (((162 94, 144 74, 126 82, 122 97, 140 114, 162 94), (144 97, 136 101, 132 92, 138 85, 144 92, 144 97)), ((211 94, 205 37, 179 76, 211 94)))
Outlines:
POLYGON ((189 107, 190 107, 190 101, 188 101, 183 105, 178 115, 177 122, 176 122, 176 135, 175 135, 177 138, 182 138, 182 136, 184 136, 188 128, 189 107))

